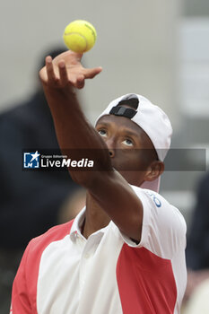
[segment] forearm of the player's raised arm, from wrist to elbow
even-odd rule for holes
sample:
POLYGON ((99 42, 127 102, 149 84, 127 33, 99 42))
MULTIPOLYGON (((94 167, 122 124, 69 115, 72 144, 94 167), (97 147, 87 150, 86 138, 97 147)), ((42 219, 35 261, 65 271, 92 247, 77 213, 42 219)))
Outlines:
MULTIPOLYGON (((57 133, 57 140, 62 152, 67 158, 80 160, 83 150, 89 159, 95 159, 100 170, 111 170, 111 162, 107 146, 100 135, 87 122, 79 105, 73 88, 66 86, 62 89, 48 87, 43 83, 44 92, 57 133), (96 154, 95 154, 96 152, 96 154)), ((93 179, 95 171, 73 171, 69 169, 73 179, 83 185, 86 176, 93 179), (80 175, 79 175, 80 174, 80 175), (80 180, 83 180, 81 182, 80 180)), ((86 187, 88 188, 88 187, 86 187)))

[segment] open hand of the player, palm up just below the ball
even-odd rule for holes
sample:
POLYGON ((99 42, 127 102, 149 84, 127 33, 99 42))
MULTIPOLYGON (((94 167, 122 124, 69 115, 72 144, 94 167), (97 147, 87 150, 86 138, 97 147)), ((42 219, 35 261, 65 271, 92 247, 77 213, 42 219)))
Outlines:
POLYGON ((91 79, 102 71, 101 67, 87 69, 81 64, 83 54, 65 51, 53 60, 46 57, 46 66, 40 72, 42 83, 48 87, 63 88, 66 85, 83 88, 85 79, 91 79))

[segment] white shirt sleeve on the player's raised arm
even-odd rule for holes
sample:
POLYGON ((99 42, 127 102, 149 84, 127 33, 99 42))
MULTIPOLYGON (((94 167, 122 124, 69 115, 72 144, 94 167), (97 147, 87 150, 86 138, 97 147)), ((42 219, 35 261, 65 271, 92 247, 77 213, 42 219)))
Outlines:
POLYGON ((162 258, 172 258, 179 247, 186 248, 186 222, 179 210, 162 196, 148 189, 131 186, 143 203, 143 227, 140 243, 122 234, 126 244, 146 248, 162 258))

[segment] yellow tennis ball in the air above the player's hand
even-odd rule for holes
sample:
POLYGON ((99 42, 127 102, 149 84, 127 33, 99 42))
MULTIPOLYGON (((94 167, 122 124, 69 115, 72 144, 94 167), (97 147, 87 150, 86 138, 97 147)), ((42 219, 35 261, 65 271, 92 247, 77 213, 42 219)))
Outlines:
POLYGON ((90 22, 76 20, 65 27, 63 39, 68 49, 83 53, 94 46, 97 32, 90 22))

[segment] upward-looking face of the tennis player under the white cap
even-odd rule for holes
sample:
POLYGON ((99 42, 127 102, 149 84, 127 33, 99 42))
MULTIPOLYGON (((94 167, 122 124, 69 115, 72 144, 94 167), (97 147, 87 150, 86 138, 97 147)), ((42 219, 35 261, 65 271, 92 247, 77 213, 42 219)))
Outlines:
POLYGON ((100 118, 96 130, 108 146, 113 168, 130 184, 140 186, 157 157, 149 136, 130 119, 113 115, 100 118))

